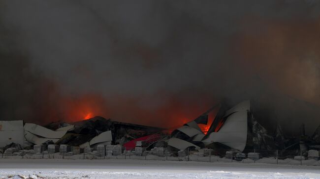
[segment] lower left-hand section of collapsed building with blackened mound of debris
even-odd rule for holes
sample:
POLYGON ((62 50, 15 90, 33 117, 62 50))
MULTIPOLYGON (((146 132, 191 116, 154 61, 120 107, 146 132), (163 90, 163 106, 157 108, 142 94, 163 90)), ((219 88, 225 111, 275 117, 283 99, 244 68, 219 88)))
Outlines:
POLYGON ((163 128, 112 121, 96 116, 72 124, 51 123, 45 127, 23 121, 0 121, 0 147, 19 144, 23 148, 41 144, 80 146, 121 144, 163 128))

